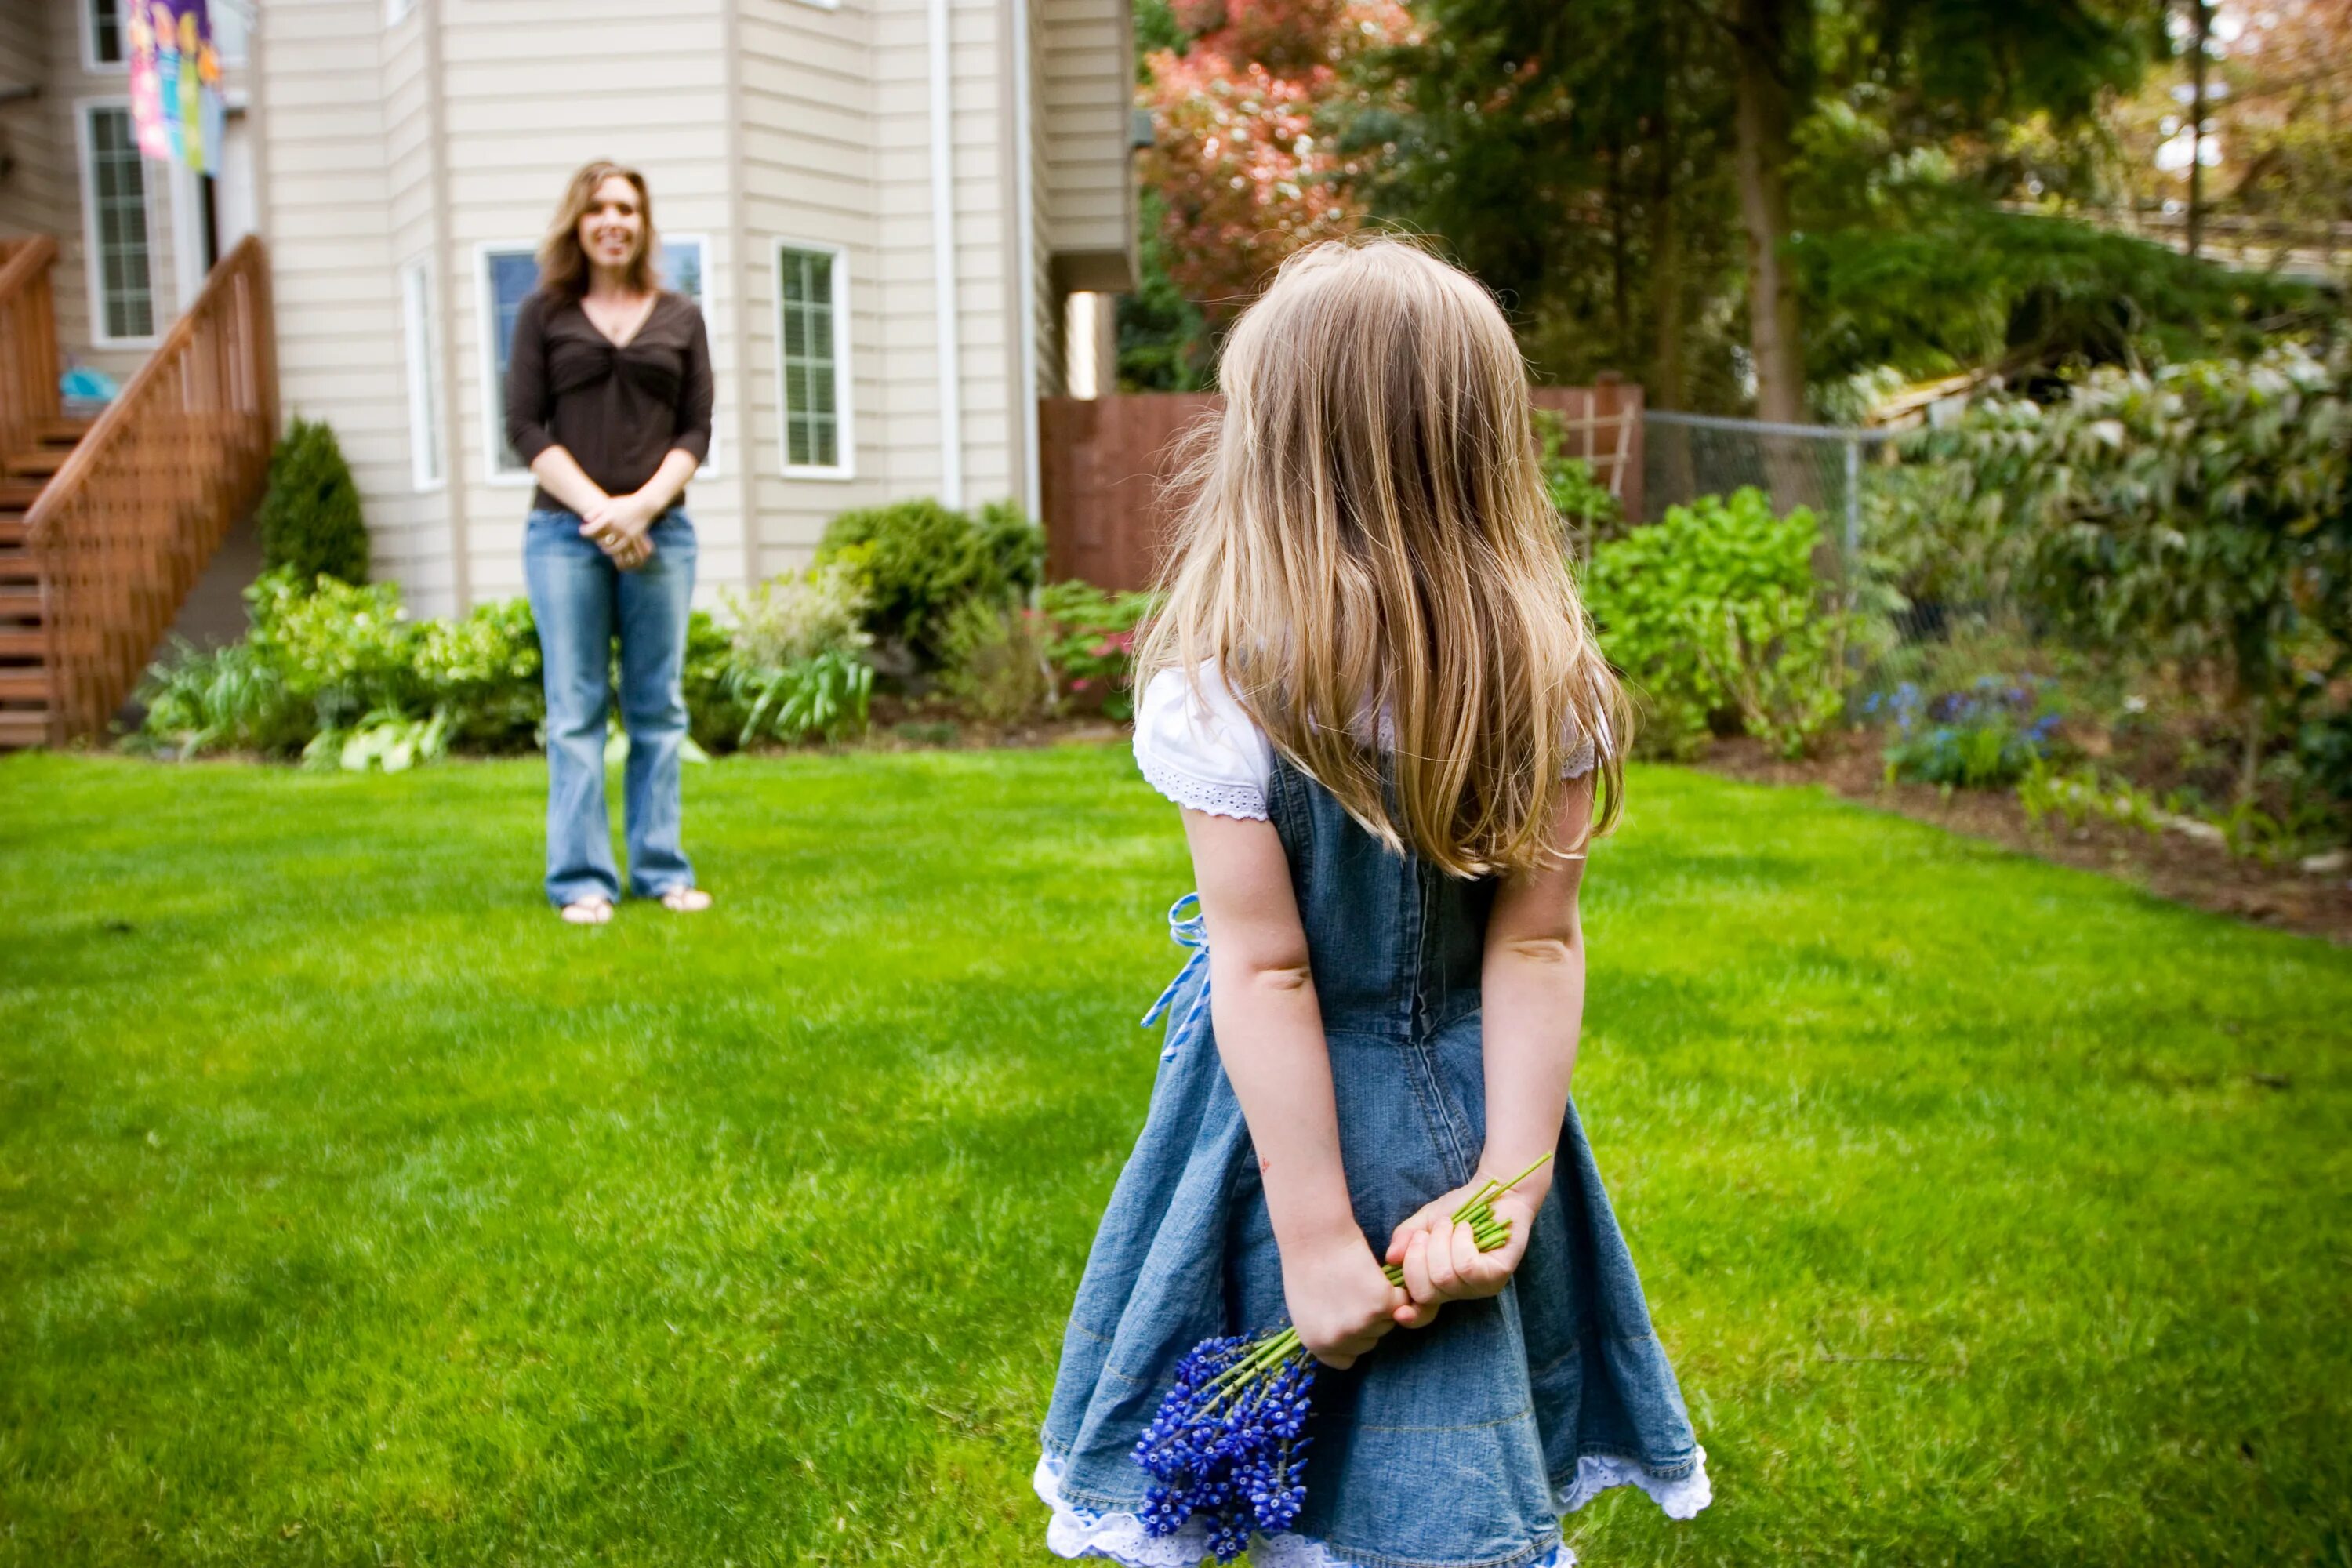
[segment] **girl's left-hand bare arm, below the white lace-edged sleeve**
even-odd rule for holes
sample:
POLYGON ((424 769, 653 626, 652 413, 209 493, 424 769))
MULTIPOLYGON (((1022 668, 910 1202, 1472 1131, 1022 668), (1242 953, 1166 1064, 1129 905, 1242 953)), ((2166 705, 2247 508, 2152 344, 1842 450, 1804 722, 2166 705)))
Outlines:
POLYGON ((1404 1293, 1388 1284, 1348 1199, 1291 867, 1270 823, 1188 809, 1183 827, 1209 926, 1209 1020, 1258 1150, 1282 1295, 1298 1340, 1331 1366, 1352 1366, 1397 1326, 1404 1293))

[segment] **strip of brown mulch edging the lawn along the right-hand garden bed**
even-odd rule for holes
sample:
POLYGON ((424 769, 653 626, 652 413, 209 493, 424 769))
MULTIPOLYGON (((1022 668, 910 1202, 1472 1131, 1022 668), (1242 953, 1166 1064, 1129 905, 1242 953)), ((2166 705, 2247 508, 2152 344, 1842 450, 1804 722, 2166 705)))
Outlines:
POLYGON ((2058 818, 2034 825, 2009 790, 1889 785, 1884 764, 1865 738, 1804 762, 1771 757, 1748 738, 1717 741, 1700 766, 1750 783, 1820 785, 1844 799, 1992 839, 2018 853, 2107 872, 2159 898, 2352 945, 2352 877, 2343 870, 2312 875, 2293 860, 2270 865, 2171 830, 2140 832, 2114 823, 2070 827, 2058 818))

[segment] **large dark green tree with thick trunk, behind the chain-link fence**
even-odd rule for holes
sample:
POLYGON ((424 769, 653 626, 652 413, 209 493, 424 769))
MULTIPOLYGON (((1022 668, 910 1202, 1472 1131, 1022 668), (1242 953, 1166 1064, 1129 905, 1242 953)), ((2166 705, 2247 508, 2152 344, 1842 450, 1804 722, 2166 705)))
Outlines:
MULTIPOLYGON (((1613 341, 1670 388, 1661 404, 1686 390, 1804 418, 1806 256, 1922 160, 1966 181, 1955 148, 2082 122, 2138 71, 2145 26, 2126 7, 2145 2, 1428 0, 1421 40, 1367 56, 1378 101, 1355 143, 1381 150, 1374 207, 1515 299, 1545 369, 1562 369, 1545 320, 1590 343, 1646 315, 1613 341), (1642 287, 1651 310, 1635 313, 1642 287), (1738 336, 1752 393, 1724 374, 1738 336)), ((2006 195, 1997 160, 1983 167, 1973 197, 2006 195)))

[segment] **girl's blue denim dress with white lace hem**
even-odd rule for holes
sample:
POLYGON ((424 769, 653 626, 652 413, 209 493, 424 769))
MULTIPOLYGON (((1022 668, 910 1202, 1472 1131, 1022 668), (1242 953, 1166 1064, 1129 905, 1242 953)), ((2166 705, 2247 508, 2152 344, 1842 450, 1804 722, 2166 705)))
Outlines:
MULTIPOLYGON (((1479 961, 1494 882, 1446 877, 1359 827, 1277 759, 1265 816, 1289 856, 1338 1091, 1341 1154, 1371 1246, 1463 1182, 1484 1145, 1479 961)), ((1200 947, 1192 900, 1171 912, 1200 947)), ((1265 1190, 1209 1025, 1204 950, 1178 973, 1150 1114, 1110 1194, 1063 1335, 1035 1474, 1047 1544, 1192 1568, 1200 1519, 1143 1533, 1134 1443, 1176 1361, 1284 1321, 1265 1190)), ((1160 1009, 1155 1009, 1157 1013, 1160 1009)), ((1559 1516, 1609 1486, 1668 1514, 1708 1505, 1705 1453, 1649 1324, 1576 1107, 1524 1262, 1341 1373, 1317 1371, 1305 1509, 1258 1568, 1564 1566, 1559 1516)))

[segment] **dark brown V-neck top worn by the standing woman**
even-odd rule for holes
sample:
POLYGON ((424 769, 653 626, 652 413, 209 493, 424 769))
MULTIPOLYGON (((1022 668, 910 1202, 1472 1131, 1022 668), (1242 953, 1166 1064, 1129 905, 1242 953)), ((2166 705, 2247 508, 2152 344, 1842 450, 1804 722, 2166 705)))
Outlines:
MULTIPOLYGON (((710 456, 710 336, 684 294, 661 294, 637 336, 614 346, 576 299, 534 289, 515 310, 506 357, 506 440, 524 463, 562 447, 626 496, 670 451, 710 456)), ((680 494, 684 501, 684 494, 680 494)), ((539 489, 534 508, 564 508, 539 489)))

